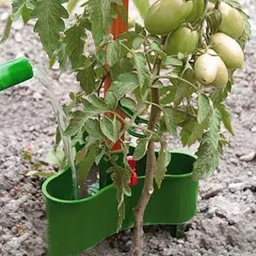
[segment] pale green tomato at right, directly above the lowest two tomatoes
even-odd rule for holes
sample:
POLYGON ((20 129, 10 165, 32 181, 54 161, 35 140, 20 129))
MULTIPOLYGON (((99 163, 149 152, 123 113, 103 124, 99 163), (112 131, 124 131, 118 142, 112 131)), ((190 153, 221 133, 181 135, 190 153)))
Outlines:
POLYGON ((244 65, 245 57, 241 46, 227 34, 218 32, 211 38, 213 49, 222 58, 228 69, 239 69, 244 65))

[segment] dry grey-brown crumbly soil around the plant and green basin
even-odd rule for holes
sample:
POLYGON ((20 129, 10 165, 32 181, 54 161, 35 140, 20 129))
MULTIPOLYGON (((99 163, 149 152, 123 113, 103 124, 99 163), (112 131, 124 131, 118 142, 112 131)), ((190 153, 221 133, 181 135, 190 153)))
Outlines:
MULTIPOLYGON (((250 13, 253 37, 246 48, 246 67, 235 74, 227 105, 236 136, 216 173, 200 183, 198 213, 184 238, 171 238, 168 227, 145 228, 144 255, 211 256, 256 254, 256 5, 242 1, 250 13)), ((8 9, 0 10, 3 30, 8 9)), ((0 31, 1 32, 1 31, 0 31)), ((10 39, 0 45, 0 61, 26 55, 47 71, 61 103, 78 90, 74 75, 48 70, 48 61, 30 24, 15 22, 10 39)), ((3 256, 46 255, 46 212, 41 192, 43 178, 26 177, 29 166, 22 151, 44 161, 54 144, 55 121, 46 92, 34 79, 0 94, 0 252, 3 256)), ((171 141, 171 149, 180 147, 171 141)), ((193 151, 193 149, 192 149, 193 151)), ((45 170, 53 170, 44 163, 45 170)), ((82 255, 128 255, 130 230, 114 235, 82 255)))

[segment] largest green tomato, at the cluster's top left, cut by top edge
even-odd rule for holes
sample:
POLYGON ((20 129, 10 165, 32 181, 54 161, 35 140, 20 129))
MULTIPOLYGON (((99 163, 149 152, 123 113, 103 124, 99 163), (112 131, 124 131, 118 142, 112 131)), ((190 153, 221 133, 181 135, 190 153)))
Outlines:
POLYGON ((188 18, 192 9, 192 1, 158 0, 146 14, 146 30, 153 34, 169 34, 188 18))

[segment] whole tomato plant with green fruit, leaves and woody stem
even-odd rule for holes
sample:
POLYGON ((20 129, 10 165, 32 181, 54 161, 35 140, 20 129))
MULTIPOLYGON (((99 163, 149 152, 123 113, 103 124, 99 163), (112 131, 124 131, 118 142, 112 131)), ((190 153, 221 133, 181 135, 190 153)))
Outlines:
MULTIPOLYGON (((69 118, 66 136, 72 137, 77 146, 78 171, 90 170, 103 157, 111 162, 108 172, 117 189, 117 230, 125 218, 125 197, 131 193, 129 143, 123 135, 130 129, 140 130, 134 159, 147 153, 146 178, 134 208, 131 251, 131 255, 139 255, 143 214, 154 193, 154 180, 160 188, 171 161, 165 135, 180 138, 183 146, 199 142, 193 170, 193 178, 199 179, 214 172, 223 154, 227 142, 221 124, 234 134, 225 99, 235 69, 244 63, 243 49, 250 38, 249 17, 236 0, 211 1, 214 4, 210 7, 208 1, 158 0, 145 14, 145 28, 135 24, 114 40, 108 32, 112 20, 122 14, 126 21, 122 0, 85 0, 82 14, 70 22, 65 22, 69 18, 63 6, 66 2, 12 2, 2 42, 8 38, 12 22, 35 19, 34 31, 50 58, 50 66, 58 62, 65 71, 66 63, 71 63, 81 90, 70 92, 70 104, 63 106, 69 118), (85 52, 89 32, 96 46, 91 54, 85 52), (103 98, 100 92, 109 78, 113 82, 103 98), (206 89, 209 86, 210 90, 206 89), (134 111, 130 120, 116 111, 120 102, 134 111), (146 113, 148 126, 142 126, 136 120, 146 113), (113 151, 118 141, 118 152, 124 156, 122 164, 113 151), (161 146, 158 158, 154 154, 156 142, 161 146)), ((60 142, 57 135, 56 148, 60 142)), ((86 174, 81 173, 81 177, 86 174)))

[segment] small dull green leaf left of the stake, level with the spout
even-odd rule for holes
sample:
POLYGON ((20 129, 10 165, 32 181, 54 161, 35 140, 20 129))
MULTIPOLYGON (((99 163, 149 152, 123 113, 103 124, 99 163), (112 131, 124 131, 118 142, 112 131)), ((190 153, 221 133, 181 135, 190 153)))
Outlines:
POLYGON ((95 73, 92 66, 86 70, 79 70, 77 80, 86 94, 91 94, 96 90, 95 73))

